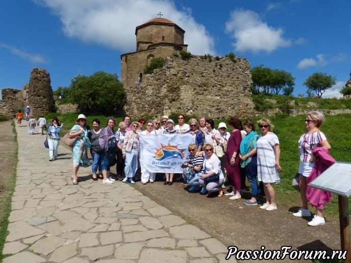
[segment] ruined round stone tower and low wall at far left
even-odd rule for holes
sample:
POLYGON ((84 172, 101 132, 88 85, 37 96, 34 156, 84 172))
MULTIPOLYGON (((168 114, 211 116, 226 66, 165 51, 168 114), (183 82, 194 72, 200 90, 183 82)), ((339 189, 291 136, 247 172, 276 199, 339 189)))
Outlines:
POLYGON ((54 99, 51 88, 50 74, 41 68, 34 68, 30 81, 22 90, 3 89, 0 101, 0 114, 13 117, 18 109, 30 106, 31 113, 38 118, 54 111, 54 99))

